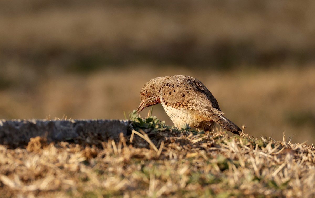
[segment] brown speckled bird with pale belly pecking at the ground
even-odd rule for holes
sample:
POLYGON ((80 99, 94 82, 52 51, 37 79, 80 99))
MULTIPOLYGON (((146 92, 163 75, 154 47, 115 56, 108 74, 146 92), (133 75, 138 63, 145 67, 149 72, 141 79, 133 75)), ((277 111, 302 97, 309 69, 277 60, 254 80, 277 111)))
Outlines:
POLYGON ((238 131, 242 131, 223 116, 217 100, 206 86, 190 76, 154 78, 143 86, 140 101, 137 114, 146 107, 161 103, 166 114, 179 129, 188 124, 191 128, 212 131, 217 123, 237 135, 240 135, 238 131))

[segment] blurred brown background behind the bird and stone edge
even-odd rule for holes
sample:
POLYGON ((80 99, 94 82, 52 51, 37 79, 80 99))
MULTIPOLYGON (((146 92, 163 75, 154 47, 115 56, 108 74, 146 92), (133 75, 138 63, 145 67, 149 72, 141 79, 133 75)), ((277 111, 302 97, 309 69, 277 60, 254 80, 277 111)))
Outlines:
MULTIPOLYGON (((203 82, 245 133, 315 143, 314 8, 313 0, 1 0, 0 119, 124 119, 147 81, 182 74, 203 82)), ((172 125, 161 105, 153 115, 172 125)))

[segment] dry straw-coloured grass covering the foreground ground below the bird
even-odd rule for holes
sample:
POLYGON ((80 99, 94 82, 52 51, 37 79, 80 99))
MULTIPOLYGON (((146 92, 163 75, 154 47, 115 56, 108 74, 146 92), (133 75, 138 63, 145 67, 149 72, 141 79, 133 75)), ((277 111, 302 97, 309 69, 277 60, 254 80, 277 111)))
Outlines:
POLYGON ((175 130, 134 119, 114 140, 0 146, 1 197, 313 197, 315 152, 306 144, 226 132, 175 130))

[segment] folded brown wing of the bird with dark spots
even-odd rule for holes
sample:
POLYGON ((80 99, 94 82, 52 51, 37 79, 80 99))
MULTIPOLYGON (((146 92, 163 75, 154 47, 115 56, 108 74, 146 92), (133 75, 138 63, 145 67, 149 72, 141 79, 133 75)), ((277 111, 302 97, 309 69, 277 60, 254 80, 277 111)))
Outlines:
POLYGON ((198 79, 189 76, 170 76, 161 88, 160 99, 173 108, 186 108, 205 114, 223 113, 210 91, 198 79))

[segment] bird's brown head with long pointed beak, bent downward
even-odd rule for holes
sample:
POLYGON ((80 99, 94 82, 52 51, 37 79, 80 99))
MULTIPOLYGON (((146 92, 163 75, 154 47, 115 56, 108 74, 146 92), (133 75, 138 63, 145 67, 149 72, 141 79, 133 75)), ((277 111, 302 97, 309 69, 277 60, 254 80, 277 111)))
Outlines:
POLYGON ((147 82, 140 92, 140 105, 137 109, 137 114, 144 108, 161 103, 160 101, 160 88, 162 82, 159 82, 160 78, 152 79, 147 82))

